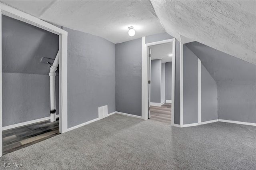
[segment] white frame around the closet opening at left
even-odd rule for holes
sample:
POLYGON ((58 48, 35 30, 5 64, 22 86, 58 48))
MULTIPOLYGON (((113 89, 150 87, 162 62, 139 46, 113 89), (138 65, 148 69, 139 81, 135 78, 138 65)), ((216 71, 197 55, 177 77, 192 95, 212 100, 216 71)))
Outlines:
MULTIPOLYGON (((2 156, 2 14, 22 22, 26 22, 59 36, 59 100, 60 100, 60 133, 68 130, 68 99, 67 99, 67 60, 68 60, 68 32, 40 20, 34 16, 21 12, 6 4, 0 3, 0 157, 2 156)), ((50 100, 50 98, 49 98, 50 100)), ((49 108, 50 110, 50 108, 49 108)))

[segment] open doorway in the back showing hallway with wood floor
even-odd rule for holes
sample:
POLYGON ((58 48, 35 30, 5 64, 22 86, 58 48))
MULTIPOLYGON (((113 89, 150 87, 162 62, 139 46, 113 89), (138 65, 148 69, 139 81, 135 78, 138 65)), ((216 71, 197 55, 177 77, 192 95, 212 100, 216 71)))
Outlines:
POLYGON ((171 124, 172 42, 152 45, 149 51, 148 119, 171 124))

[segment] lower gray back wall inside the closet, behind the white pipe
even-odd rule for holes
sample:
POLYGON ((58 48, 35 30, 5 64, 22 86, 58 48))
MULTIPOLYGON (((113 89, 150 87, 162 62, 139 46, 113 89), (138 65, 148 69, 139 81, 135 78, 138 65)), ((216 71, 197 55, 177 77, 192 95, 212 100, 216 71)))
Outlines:
MULTIPOLYGON (((56 82, 58 96, 58 81, 56 82)), ((50 78, 48 75, 2 73, 2 99, 3 127, 49 117, 50 78)), ((58 97, 56 108, 58 114, 58 97)))

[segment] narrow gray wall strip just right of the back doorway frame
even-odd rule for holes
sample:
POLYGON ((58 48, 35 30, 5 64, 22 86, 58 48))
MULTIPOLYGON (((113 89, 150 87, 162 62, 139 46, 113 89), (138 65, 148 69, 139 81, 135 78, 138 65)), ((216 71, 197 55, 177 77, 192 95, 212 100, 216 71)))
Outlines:
POLYGON ((180 125, 180 42, 176 40, 175 49, 175 107, 174 123, 180 125))

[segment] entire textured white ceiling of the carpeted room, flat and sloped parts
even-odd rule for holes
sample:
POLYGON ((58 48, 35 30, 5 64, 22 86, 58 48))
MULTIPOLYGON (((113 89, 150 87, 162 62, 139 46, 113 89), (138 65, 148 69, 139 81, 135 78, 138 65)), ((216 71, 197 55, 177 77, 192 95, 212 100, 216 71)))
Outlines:
POLYGON ((256 1, 1 2, 113 43, 166 31, 183 43, 197 41, 256 65, 256 1))

